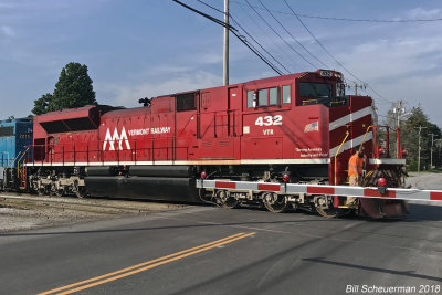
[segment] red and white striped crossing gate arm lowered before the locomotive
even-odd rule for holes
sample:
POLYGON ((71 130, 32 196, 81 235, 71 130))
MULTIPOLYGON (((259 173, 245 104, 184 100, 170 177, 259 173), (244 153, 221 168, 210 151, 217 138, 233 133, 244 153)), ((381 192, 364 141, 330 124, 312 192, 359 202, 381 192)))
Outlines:
POLYGON ((197 180, 200 189, 227 189, 235 191, 273 191, 283 194, 327 194, 339 197, 378 198, 397 200, 442 201, 442 190, 417 190, 388 188, 386 193, 380 193, 377 188, 348 187, 348 186, 322 186, 322 185, 295 185, 251 181, 225 180, 197 180))

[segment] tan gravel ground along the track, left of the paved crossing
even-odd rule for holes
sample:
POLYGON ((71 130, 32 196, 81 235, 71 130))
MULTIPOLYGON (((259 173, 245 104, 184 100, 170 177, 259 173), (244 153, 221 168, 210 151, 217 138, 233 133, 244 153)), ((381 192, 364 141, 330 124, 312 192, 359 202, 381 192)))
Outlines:
POLYGON ((185 208, 162 202, 0 194, 0 232, 75 224, 185 208))

